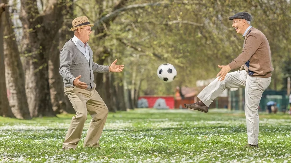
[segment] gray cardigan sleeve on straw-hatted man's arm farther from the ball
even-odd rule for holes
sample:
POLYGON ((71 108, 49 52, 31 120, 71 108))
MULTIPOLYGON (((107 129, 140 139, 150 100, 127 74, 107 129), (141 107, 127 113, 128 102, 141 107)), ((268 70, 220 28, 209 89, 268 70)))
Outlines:
POLYGON ((60 53, 60 75, 68 83, 74 85, 74 80, 76 79, 70 72, 70 67, 73 62, 73 56, 70 51, 63 49, 60 53))

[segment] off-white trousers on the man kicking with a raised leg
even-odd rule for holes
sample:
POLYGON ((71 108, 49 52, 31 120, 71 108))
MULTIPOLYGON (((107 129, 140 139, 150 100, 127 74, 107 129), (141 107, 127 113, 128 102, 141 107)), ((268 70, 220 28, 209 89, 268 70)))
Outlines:
POLYGON ((259 136, 258 106, 263 92, 268 88, 271 77, 251 77, 245 70, 230 72, 223 81, 216 78, 197 96, 205 105, 209 106, 218 95, 229 88, 245 87, 245 114, 248 144, 257 145, 259 136))

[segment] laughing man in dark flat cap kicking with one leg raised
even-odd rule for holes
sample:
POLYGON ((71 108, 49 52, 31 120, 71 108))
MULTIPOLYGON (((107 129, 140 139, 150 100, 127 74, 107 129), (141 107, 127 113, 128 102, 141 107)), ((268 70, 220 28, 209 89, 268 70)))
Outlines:
POLYGON ((212 101, 225 89, 245 87, 245 114, 248 134, 247 147, 258 147, 259 115, 258 105, 263 92, 271 82, 271 50, 265 35, 251 26, 252 17, 249 13, 240 12, 229 17, 232 27, 244 37, 242 52, 228 65, 221 68, 212 81, 199 95, 201 101, 184 104, 186 107, 201 112, 208 112, 212 101), (239 71, 230 72, 241 67, 239 71), (245 70, 243 70, 243 68, 245 70))

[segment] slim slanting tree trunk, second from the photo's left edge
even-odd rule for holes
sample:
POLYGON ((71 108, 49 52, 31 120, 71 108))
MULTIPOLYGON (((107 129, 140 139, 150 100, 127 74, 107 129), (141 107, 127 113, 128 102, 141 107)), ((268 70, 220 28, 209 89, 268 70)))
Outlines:
MULTIPOLYGON (((3 0, 6 3, 6 0, 3 0)), ((13 23, 8 7, 3 13, 4 26, 4 60, 6 87, 10 93, 9 104, 16 118, 31 119, 25 93, 24 73, 18 51, 13 23)))

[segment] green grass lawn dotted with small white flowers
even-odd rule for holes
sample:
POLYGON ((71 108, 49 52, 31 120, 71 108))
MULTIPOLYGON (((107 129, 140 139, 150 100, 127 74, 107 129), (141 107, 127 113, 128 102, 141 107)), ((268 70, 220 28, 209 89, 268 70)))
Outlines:
POLYGON ((291 162, 290 115, 260 113, 259 148, 243 112, 137 109, 109 113, 101 148, 62 150, 73 115, 0 117, 0 162, 291 162))

